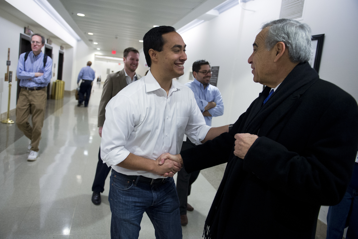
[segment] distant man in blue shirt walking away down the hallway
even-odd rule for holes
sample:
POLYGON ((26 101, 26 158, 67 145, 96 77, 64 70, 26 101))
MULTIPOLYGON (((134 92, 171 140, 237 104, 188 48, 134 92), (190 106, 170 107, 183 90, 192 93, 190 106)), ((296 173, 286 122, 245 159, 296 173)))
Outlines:
POLYGON ((81 86, 78 91, 78 105, 81 106, 84 100, 84 107, 88 106, 89 96, 91 95, 92 83, 95 79, 95 71, 91 68, 92 62, 88 61, 87 66, 83 67, 78 74, 77 85, 82 79, 81 86), (86 94, 86 98, 84 95, 86 94))

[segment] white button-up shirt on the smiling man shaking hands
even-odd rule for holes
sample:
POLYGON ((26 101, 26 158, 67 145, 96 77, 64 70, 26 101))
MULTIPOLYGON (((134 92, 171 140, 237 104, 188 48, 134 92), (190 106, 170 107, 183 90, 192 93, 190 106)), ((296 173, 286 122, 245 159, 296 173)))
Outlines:
POLYGON ((193 143, 201 144, 210 128, 205 124, 192 90, 172 80, 167 96, 149 71, 108 102, 101 158, 122 174, 164 178, 117 164, 129 153, 153 160, 164 153, 178 154, 184 133, 193 143))

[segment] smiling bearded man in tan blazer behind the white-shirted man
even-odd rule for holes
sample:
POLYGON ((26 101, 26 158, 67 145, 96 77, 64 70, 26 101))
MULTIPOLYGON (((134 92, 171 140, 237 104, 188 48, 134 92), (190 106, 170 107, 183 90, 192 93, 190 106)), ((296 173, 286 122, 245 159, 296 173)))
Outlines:
MULTIPOLYGON (((102 128, 105 123, 106 105, 120 90, 125 88, 130 83, 139 80, 140 75, 135 73, 138 67, 139 51, 135 48, 126 48, 123 52, 124 69, 116 73, 108 74, 98 108, 98 133, 102 137, 102 128)), ((101 159, 101 149, 98 152, 98 163, 96 169, 95 180, 92 185, 92 203, 95 205, 101 204, 101 193, 104 191, 105 180, 111 167, 108 168, 101 159)))

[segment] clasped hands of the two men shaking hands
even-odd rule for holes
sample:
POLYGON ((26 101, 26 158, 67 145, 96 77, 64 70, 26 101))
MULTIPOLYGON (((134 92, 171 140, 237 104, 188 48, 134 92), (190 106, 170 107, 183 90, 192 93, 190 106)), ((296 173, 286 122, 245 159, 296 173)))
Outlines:
POLYGON ((183 159, 180 154, 162 154, 156 159, 157 166, 154 169, 155 174, 164 177, 173 177, 176 172, 183 168, 183 159))

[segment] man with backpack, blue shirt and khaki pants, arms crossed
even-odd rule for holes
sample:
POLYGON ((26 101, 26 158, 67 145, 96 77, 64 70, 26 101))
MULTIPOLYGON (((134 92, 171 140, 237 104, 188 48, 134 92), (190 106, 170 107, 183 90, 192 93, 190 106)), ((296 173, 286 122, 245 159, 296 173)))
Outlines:
POLYGON ((52 74, 52 59, 41 52, 44 45, 42 35, 32 35, 32 51, 20 55, 16 70, 21 87, 16 104, 16 125, 30 139, 28 161, 34 161, 38 156, 47 102, 46 86, 52 74), (29 123, 30 114, 32 126, 29 123))

